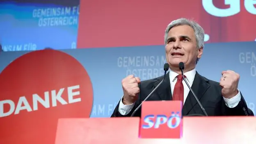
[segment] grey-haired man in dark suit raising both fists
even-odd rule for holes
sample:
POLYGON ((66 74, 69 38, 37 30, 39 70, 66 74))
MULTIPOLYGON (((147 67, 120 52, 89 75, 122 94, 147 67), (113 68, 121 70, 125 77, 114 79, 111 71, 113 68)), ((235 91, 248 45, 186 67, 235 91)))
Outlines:
MULTIPOLYGON (((182 114, 203 112, 192 92, 185 84, 178 64, 185 64, 184 75, 209 116, 253 116, 242 93, 238 90, 239 74, 223 71, 220 82, 208 80, 195 70, 203 54, 204 31, 194 21, 180 18, 172 21, 165 31, 166 59, 170 71, 162 85, 147 101, 178 100, 183 102, 182 114)), ((136 107, 160 83, 163 76, 140 81, 133 75, 122 80, 123 97, 111 117, 129 117, 136 107)), ((141 116, 141 109, 135 117, 141 116)))

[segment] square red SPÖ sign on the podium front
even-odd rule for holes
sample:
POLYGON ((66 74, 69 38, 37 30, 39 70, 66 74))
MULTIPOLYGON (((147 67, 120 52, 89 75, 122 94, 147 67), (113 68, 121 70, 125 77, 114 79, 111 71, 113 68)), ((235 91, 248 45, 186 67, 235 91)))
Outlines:
POLYGON ((139 127, 141 138, 181 138, 181 101, 145 101, 139 127))

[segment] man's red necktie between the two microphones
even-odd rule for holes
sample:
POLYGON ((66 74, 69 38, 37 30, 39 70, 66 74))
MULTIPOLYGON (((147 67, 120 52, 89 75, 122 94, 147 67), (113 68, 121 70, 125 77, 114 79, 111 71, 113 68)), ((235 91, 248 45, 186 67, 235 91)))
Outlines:
POLYGON ((174 92, 173 92, 173 100, 174 101, 182 101, 182 105, 183 105, 183 101, 184 101, 184 87, 182 84, 182 75, 178 75, 177 76, 178 80, 174 86, 174 92))

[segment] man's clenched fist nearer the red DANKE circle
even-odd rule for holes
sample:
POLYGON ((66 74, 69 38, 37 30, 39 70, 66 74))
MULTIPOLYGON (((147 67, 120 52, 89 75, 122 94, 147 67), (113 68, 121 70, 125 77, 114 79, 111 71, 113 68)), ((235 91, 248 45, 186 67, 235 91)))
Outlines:
POLYGON ((140 79, 134 75, 128 75, 122 80, 123 87, 123 104, 130 105, 137 100, 139 93, 140 79))

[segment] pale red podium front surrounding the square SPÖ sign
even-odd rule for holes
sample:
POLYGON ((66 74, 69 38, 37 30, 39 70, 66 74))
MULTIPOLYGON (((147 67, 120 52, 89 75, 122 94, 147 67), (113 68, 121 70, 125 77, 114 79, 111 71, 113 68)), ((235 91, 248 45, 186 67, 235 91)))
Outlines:
POLYGON ((139 118, 59 119, 55 144, 255 144, 256 117, 184 117, 181 139, 142 139, 139 118))

